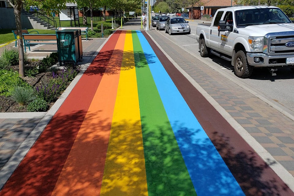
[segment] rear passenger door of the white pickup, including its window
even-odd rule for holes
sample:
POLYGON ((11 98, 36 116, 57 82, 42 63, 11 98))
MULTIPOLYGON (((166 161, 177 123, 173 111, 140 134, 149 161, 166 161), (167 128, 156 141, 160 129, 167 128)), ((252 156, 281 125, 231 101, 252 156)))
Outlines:
POLYGON ((214 16, 213 24, 209 29, 209 46, 212 49, 218 50, 220 48, 220 36, 218 36, 218 22, 221 20, 224 11, 218 11, 214 16))

